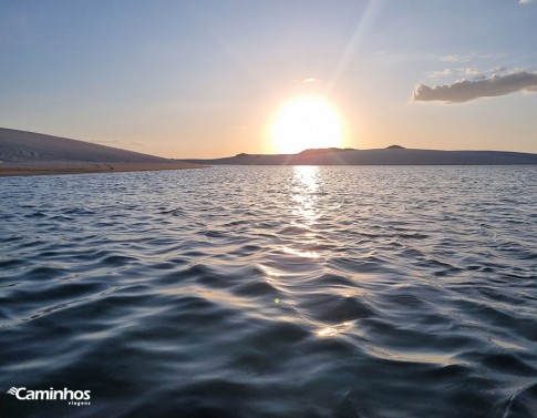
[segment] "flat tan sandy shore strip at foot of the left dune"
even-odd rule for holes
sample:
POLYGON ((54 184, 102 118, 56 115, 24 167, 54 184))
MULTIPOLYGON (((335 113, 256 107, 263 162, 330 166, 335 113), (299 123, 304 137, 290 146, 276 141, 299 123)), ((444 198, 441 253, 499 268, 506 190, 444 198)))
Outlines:
POLYGON ((58 174, 93 174, 125 173, 136 171, 163 171, 204 169, 207 165, 186 162, 165 163, 0 163, 0 176, 58 175, 58 174))

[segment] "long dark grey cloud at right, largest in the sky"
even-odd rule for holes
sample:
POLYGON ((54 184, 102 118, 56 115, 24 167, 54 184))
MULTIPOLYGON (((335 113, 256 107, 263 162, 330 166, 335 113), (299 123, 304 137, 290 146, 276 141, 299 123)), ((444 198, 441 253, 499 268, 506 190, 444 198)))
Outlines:
POLYGON ((464 103, 479 98, 494 98, 517 91, 537 92, 537 72, 519 71, 478 80, 462 80, 443 85, 420 84, 414 89, 412 101, 464 103))

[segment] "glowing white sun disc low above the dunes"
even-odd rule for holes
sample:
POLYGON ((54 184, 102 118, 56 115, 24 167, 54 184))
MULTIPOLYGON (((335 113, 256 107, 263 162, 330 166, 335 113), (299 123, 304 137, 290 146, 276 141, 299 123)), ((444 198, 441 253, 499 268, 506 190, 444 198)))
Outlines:
POLYGON ((308 149, 341 146, 338 112, 322 98, 302 96, 288 102, 272 123, 272 145, 292 154, 308 149))

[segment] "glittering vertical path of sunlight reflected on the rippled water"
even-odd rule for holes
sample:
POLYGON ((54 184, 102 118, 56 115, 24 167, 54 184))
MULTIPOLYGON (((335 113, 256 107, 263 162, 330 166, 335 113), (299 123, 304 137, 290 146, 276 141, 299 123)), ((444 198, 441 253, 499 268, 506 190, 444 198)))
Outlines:
MULTIPOLYGON (((272 252, 272 263, 262 266, 267 283, 278 290, 271 305, 281 309, 282 320, 306 326, 318 338, 338 338, 349 333, 354 324, 339 323, 341 316, 334 322, 319 320, 317 315, 302 306, 303 300, 311 296, 304 292, 304 283, 313 287, 327 286, 326 292, 335 290, 334 298, 341 297, 330 284, 319 283, 327 274, 330 256, 330 245, 324 238, 326 228, 321 224, 327 216, 330 217, 327 213, 327 194, 323 193, 323 169, 293 166, 290 170, 286 202, 288 225, 281 230, 280 243, 272 252), (280 273, 280 268, 285 273, 280 273)), ((319 309, 322 312, 326 306, 319 306, 319 309)), ((355 334, 355 330, 352 333, 355 334)))

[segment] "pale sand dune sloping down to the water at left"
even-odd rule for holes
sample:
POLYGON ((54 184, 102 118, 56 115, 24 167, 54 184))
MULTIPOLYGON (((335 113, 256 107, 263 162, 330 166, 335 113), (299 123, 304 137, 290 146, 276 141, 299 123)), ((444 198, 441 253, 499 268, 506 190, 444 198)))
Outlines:
POLYGON ((90 142, 0 128, 0 175, 194 167, 199 165, 90 142))

